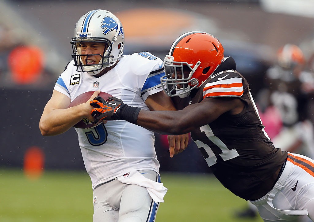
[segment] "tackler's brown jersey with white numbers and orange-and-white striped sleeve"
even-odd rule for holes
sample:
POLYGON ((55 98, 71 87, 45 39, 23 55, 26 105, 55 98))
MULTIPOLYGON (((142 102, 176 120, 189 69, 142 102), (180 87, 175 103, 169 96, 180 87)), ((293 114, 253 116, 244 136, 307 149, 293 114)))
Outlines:
POLYGON ((237 97, 246 104, 240 114, 224 113, 192 131, 191 137, 214 175, 232 193, 246 200, 253 199, 257 190, 266 194, 274 183, 265 181, 284 163, 287 153, 275 148, 264 132, 244 77, 234 70, 212 74, 191 95, 186 105, 207 97, 237 97))

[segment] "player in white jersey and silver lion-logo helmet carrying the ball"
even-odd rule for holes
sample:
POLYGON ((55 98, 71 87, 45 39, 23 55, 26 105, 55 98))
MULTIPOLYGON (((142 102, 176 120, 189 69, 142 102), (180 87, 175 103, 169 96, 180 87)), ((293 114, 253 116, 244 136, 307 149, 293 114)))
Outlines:
MULTIPOLYGON (((106 10, 92 10, 77 22, 71 44, 73 60, 59 76, 40 120, 44 136, 66 132, 83 118, 94 120, 89 101, 68 108, 84 92, 100 91, 144 110, 175 110, 162 90, 160 58, 149 52, 122 55, 120 20, 106 10)), ((160 183, 153 132, 127 121, 75 128, 92 181, 93 221, 154 221, 166 188, 160 183)), ((187 147, 188 135, 168 137, 170 156, 187 147)))

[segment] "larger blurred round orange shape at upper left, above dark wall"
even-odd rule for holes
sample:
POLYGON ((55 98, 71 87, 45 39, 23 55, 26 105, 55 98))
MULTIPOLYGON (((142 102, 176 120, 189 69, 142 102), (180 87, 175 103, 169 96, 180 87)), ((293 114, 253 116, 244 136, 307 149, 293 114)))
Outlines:
POLYGON ((43 70, 44 54, 36 46, 18 46, 9 54, 8 66, 15 83, 34 83, 43 70))

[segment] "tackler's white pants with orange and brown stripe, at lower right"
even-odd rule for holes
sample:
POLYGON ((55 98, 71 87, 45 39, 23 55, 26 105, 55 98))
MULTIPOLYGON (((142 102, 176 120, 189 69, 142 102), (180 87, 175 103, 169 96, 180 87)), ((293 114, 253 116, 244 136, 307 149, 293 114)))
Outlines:
POLYGON ((288 153, 284 171, 274 188, 251 203, 257 206, 265 222, 298 221, 301 215, 314 221, 314 160, 288 153))

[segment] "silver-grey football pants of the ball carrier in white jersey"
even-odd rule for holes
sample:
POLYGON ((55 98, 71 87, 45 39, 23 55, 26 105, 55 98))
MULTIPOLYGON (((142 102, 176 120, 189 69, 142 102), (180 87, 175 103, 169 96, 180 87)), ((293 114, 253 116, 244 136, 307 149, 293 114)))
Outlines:
MULTIPOLYGON (((160 183, 160 176, 153 170, 139 172, 160 183)), ((93 199, 93 222, 154 222, 159 207, 145 187, 128 185, 118 180, 96 187, 93 199)))

